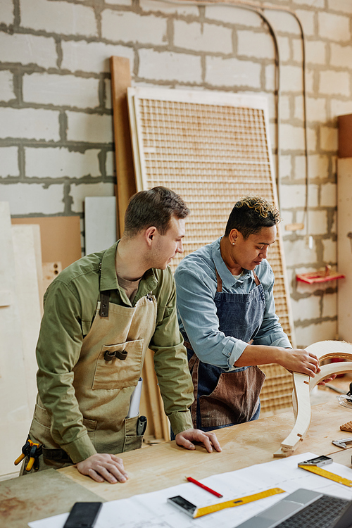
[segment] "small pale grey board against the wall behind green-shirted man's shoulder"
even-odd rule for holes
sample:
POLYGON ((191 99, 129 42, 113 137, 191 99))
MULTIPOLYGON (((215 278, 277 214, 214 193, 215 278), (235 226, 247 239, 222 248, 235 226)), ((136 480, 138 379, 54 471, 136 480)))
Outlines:
POLYGON ((84 199, 84 234, 86 255, 115 244, 115 196, 87 196, 84 199))

